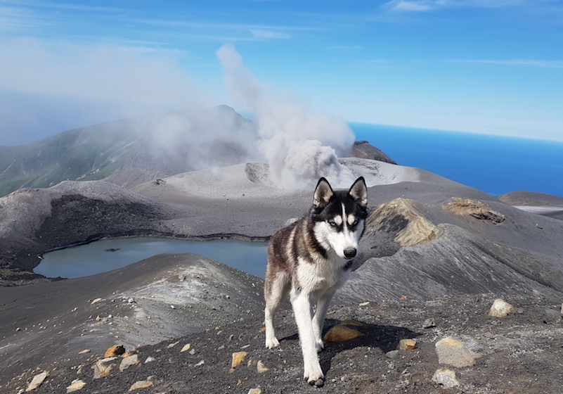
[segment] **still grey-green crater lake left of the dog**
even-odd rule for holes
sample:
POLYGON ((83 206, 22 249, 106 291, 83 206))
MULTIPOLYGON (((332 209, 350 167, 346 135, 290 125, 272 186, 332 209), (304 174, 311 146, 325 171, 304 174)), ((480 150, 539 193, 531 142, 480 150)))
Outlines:
POLYGON ((233 240, 110 239, 45 253, 33 271, 49 278, 79 278, 125 267, 161 253, 195 253, 264 278, 267 245, 233 240))

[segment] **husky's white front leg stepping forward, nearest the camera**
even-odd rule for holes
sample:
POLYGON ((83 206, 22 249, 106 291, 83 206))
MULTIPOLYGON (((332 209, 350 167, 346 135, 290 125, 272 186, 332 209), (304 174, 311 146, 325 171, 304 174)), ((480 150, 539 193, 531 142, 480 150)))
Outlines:
POLYGON ((322 386, 325 375, 321 369, 321 364, 318 362, 310 295, 304 291, 299 294, 292 293, 291 303, 293 312, 295 312, 295 321, 297 322, 299 341, 303 352, 303 376, 309 384, 322 386))

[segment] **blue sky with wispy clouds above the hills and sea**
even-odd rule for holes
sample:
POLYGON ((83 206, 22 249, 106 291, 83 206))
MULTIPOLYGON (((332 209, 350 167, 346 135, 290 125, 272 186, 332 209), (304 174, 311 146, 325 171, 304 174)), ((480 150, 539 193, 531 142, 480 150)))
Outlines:
POLYGON ((264 89, 349 122, 563 140, 563 1, 0 0, 0 145, 264 89))

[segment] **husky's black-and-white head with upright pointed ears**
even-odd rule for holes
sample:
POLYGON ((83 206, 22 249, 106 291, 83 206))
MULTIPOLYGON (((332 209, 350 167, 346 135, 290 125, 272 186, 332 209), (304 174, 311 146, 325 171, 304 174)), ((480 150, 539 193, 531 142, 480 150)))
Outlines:
POLYGON ((363 177, 356 179, 349 191, 333 191, 325 178, 318 180, 313 194, 313 229, 326 250, 340 258, 356 256, 358 241, 368 216, 368 188, 363 177))

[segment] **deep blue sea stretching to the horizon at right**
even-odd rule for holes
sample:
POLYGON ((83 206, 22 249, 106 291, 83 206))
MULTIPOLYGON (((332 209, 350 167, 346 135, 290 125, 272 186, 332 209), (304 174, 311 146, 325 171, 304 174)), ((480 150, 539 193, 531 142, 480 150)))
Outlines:
POLYGON ((563 141, 350 123, 399 165, 418 167, 500 196, 535 191, 563 197, 563 141))

